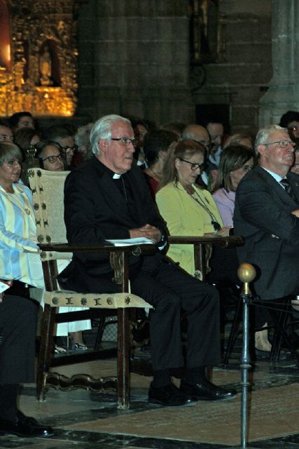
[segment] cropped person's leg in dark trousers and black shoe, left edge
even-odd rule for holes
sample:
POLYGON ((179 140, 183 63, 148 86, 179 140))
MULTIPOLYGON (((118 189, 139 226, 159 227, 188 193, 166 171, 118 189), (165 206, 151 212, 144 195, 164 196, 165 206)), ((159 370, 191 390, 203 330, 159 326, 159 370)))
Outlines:
POLYGON ((18 410, 20 383, 34 382, 36 312, 33 302, 0 293, 0 435, 53 435, 18 410))

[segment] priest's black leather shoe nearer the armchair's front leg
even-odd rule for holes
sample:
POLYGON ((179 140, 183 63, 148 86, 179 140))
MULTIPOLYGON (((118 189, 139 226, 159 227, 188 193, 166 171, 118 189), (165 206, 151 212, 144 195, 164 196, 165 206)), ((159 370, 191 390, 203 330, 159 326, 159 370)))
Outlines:
POLYGON ((174 384, 155 388, 153 382, 148 389, 148 402, 166 407, 183 407, 195 404, 195 401, 183 394, 174 384))

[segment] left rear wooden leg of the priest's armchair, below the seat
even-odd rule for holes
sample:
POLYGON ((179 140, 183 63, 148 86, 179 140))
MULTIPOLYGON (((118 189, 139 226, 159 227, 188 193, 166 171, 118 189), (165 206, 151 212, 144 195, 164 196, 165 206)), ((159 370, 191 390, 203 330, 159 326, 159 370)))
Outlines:
POLYGON ((53 349, 53 330, 55 324, 56 307, 45 304, 43 321, 41 326, 41 346, 39 350, 39 361, 36 373, 36 398, 45 401, 46 375, 49 370, 53 349))

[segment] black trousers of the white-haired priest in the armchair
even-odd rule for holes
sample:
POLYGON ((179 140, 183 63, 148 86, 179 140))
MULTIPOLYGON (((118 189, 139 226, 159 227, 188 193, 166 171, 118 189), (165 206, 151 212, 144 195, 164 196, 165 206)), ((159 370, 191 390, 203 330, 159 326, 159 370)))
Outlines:
POLYGON ((155 308, 150 318, 153 370, 184 365, 182 310, 188 319, 187 368, 219 363, 219 299, 214 287, 162 258, 155 270, 145 260, 131 290, 155 308))

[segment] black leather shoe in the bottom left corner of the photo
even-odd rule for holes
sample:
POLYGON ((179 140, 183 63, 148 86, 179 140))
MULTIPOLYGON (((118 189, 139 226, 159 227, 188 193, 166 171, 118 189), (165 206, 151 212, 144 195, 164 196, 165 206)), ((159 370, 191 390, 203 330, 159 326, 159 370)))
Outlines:
POLYGON ((0 435, 13 434, 27 438, 45 437, 54 435, 52 427, 39 424, 33 417, 25 416, 18 411, 15 421, 0 418, 0 435))

